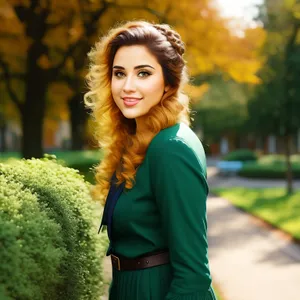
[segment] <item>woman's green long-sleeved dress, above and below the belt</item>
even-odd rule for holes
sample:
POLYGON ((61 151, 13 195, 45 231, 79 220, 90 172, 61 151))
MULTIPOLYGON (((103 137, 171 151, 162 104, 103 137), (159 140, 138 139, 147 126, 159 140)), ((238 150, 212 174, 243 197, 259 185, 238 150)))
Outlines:
POLYGON ((136 257, 168 248, 168 265, 138 271, 113 269, 110 300, 210 300, 206 199, 202 144, 185 124, 160 131, 113 209, 110 245, 136 257))

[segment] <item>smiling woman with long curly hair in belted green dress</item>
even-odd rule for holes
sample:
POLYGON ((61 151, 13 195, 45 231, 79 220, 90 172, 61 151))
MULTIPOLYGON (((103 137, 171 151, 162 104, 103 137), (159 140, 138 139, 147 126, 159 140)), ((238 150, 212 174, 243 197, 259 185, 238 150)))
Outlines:
POLYGON ((93 192, 108 193, 101 227, 110 239, 110 300, 216 299, 205 154, 181 92, 184 50, 168 25, 135 21, 89 53, 85 101, 105 151, 93 192))

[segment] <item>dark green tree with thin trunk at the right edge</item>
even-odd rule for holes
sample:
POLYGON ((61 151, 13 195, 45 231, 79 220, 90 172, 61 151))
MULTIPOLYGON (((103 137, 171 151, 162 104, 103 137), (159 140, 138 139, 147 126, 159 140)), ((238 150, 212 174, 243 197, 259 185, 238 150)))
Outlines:
POLYGON ((267 30, 263 48, 266 64, 259 73, 262 85, 249 102, 250 124, 257 133, 276 134, 284 141, 290 194, 293 191, 291 137, 300 128, 299 2, 291 0, 271 6, 266 1, 261 20, 267 30))

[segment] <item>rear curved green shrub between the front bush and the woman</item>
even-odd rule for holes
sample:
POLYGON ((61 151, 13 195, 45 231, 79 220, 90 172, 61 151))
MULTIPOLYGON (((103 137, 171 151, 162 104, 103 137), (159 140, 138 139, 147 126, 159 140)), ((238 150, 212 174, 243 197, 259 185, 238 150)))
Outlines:
MULTIPOLYGON (((97 235, 99 219, 96 225, 89 185, 83 177, 78 171, 48 159, 3 164, 0 165, 0 174, 36 195, 40 207, 60 228, 63 243, 59 247, 65 253, 59 265, 59 276, 55 276, 60 279, 53 285, 55 294, 39 299, 99 299, 103 285, 101 253, 104 249, 97 235)), ((48 273, 43 272, 42 277, 47 276, 48 273)), ((22 298, 21 295, 17 298, 37 299, 22 298)))

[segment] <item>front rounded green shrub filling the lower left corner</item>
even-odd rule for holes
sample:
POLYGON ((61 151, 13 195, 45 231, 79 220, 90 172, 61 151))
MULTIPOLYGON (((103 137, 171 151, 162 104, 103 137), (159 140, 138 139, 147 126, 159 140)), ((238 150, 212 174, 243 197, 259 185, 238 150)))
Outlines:
POLYGON ((62 283, 67 251, 47 210, 22 183, 0 175, 1 299, 51 299, 62 283))

